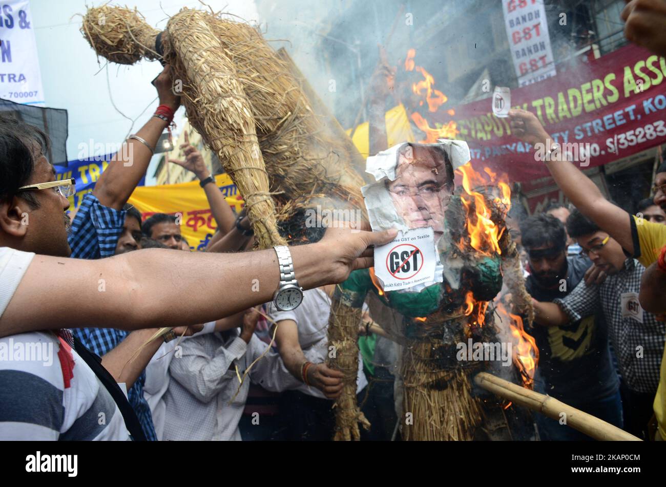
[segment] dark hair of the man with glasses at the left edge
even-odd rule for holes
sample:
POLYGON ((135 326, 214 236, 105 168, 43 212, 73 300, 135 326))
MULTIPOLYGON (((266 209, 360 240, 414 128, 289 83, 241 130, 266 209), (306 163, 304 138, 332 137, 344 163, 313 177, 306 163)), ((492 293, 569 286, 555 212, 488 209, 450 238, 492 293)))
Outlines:
MULTIPOLYGON (((48 154, 49 144, 49 137, 39 128, 0 115, 0 201, 9 200, 21 186, 27 186, 35 170, 35 146, 42 154, 48 154)), ((31 208, 39 207, 33 191, 22 191, 21 198, 31 208)))

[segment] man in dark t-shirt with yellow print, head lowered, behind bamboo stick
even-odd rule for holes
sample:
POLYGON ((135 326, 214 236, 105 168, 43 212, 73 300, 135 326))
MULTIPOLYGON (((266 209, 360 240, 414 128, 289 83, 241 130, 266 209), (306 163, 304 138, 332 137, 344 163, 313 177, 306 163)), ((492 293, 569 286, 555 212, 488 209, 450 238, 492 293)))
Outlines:
MULTIPOLYGON (((520 230, 530 271, 525 288, 534 299, 561 299, 583 282, 591 262, 583 255, 567 257, 567 236, 557 218, 531 216, 521 222, 520 230)), ((617 374, 611 365, 605 327, 600 326, 595 311, 560 326, 535 326, 529 333, 539 347, 535 390, 622 426, 617 374)), ((542 440, 589 439, 541 414, 536 421, 542 440)))

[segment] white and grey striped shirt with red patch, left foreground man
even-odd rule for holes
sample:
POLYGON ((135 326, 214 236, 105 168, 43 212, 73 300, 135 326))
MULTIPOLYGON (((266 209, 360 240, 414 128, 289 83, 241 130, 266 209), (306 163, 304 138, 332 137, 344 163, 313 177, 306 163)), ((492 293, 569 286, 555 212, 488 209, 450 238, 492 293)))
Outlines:
MULTIPOLYGON (((0 316, 35 254, 0 247, 0 316)), ((97 375, 51 332, 0 338, 0 440, 128 440, 97 375)))

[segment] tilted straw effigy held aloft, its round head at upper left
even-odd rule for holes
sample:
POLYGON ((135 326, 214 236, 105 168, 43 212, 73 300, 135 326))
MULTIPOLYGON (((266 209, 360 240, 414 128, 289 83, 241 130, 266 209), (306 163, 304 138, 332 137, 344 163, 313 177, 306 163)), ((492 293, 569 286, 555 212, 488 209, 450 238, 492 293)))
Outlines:
MULTIPOLYGON (((155 51, 159 31, 136 11, 108 5, 89 9, 81 31, 97 54, 110 61, 127 64, 142 56, 159 58, 155 51), (105 19, 104 25, 99 25, 100 18, 105 19)), ((323 193, 336 196, 331 203, 334 208, 363 208, 359 204, 363 181, 350 166, 362 166, 360 154, 330 120, 313 110, 293 67, 276 55, 256 29, 219 15, 182 9, 168 21, 161 42, 174 79, 183 81, 190 122, 218 154, 241 194, 246 200, 250 197, 248 206, 268 202, 269 195, 281 207, 295 198, 323 193), (212 61, 217 71, 211 71, 212 61), (263 165, 258 164, 259 156, 263 165), (264 170, 268 188, 266 175, 260 174, 264 170)), ((255 234, 262 240, 260 246, 266 247, 266 242, 279 240, 274 212, 260 206, 261 212, 250 212, 250 220, 259 227, 255 234)))

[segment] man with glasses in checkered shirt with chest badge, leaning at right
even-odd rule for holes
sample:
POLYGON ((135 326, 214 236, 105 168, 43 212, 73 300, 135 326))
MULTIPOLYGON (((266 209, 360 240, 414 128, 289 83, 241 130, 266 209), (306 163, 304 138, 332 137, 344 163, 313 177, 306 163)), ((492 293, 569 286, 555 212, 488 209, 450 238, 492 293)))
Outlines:
POLYGON ((567 297, 553 303, 535 301, 535 320, 545 327, 579 321, 601 308, 621 375, 620 393, 625 429, 647 439, 647 424, 659 385, 659 365, 666 324, 638 302, 645 267, 627 258, 622 247, 577 210, 567 230, 583 253, 608 275, 600 285, 579 283, 567 297))

